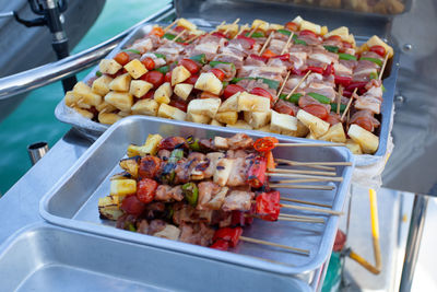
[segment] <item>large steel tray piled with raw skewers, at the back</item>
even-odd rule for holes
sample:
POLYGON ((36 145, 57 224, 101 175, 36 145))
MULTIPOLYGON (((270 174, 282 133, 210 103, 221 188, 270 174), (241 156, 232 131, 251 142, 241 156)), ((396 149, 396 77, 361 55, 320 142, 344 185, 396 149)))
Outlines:
MULTIPOLYGON (((114 57, 118 51, 120 51, 122 48, 129 47, 135 39, 139 39, 146 35, 150 30, 152 28, 152 23, 151 24, 145 24, 135 31, 133 31, 129 36, 126 37, 123 42, 121 42, 109 55, 108 58, 114 57)), ((208 30, 205 27, 202 27, 203 30, 208 30)), ((356 37, 357 44, 362 44, 366 42, 365 37, 356 37)), ((383 85, 386 87, 386 92, 383 93, 383 101, 381 105, 381 115, 380 115, 380 120, 381 120, 381 126, 378 129, 379 132, 377 135, 379 136, 379 148, 377 152, 374 154, 373 159, 379 159, 385 156, 387 152, 387 142, 390 137, 390 131, 391 131, 391 124, 392 124, 392 112, 393 112, 393 98, 394 98, 394 87, 395 87, 395 81, 398 77, 398 60, 399 60, 399 51, 395 51, 394 57, 389 61, 387 65, 386 69, 386 74, 388 77, 383 80, 383 85)), ((91 71, 84 79, 86 82, 88 79, 93 78, 95 75, 95 72, 97 71, 97 67, 94 68, 93 71, 91 71)), ((85 132, 86 135, 91 136, 99 136, 102 132, 104 132, 109 126, 98 124, 95 121, 92 121, 90 119, 86 119, 82 117, 81 115, 76 114, 73 109, 68 108, 64 105, 63 100, 60 101, 58 106, 55 109, 55 115, 56 117, 67 124, 70 124, 78 129, 80 129, 82 132, 85 132)), ((167 119, 163 119, 167 120, 167 119)), ((196 125, 196 124, 191 124, 196 125)), ((282 136, 282 137, 288 137, 288 136, 282 136)))

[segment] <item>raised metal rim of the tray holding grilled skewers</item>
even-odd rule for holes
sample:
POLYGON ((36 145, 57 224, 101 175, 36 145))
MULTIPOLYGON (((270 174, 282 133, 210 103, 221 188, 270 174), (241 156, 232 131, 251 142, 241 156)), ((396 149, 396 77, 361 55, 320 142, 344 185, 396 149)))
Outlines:
MULTIPOLYGON (((98 149, 99 144, 103 141, 105 141, 111 135, 111 132, 114 132, 117 129, 117 127, 119 125, 130 124, 138 119, 149 120, 147 118, 142 117, 142 116, 132 116, 132 117, 121 119, 121 120, 117 121, 115 125, 113 125, 108 131, 105 131, 102 135, 102 137, 95 143, 93 143, 90 147, 90 149, 86 150, 86 152, 78 160, 78 162, 59 179, 59 182, 40 200, 39 213, 43 217, 43 219, 47 220, 50 223, 61 225, 64 227, 69 227, 69 229, 91 232, 94 234, 98 234, 98 235, 103 235, 103 236, 107 236, 107 237, 115 237, 115 238, 119 238, 119 240, 123 240, 123 241, 128 240, 130 242, 151 245, 151 246, 155 246, 155 247, 160 247, 160 248, 172 249, 172 250, 181 252, 181 253, 188 253, 188 254, 191 254, 194 256, 203 256, 203 257, 211 258, 214 260, 218 259, 218 260, 228 261, 228 262, 233 262, 233 264, 240 265, 240 266, 245 265, 250 268, 261 269, 261 270, 265 270, 265 271, 273 271, 273 272, 283 273, 283 275, 296 275, 296 273, 309 272, 309 271, 315 270, 318 267, 320 267, 327 260, 329 253, 332 248, 332 246, 327 246, 327 243, 329 241, 332 241, 332 243, 333 243, 334 234, 332 234, 332 236, 330 238, 328 236, 322 236, 322 240, 320 242, 321 248, 318 249, 318 254, 308 264, 296 268, 296 267, 291 267, 291 266, 272 264, 269 261, 250 258, 248 256, 238 255, 238 254, 233 254, 233 256, 229 259, 229 258, 226 258, 225 254, 220 250, 211 250, 211 248, 204 248, 201 246, 196 246, 197 248, 193 248, 194 245, 191 245, 191 244, 173 242, 173 241, 168 241, 168 240, 164 240, 164 238, 156 238, 153 236, 144 236, 142 234, 127 233, 121 230, 117 230, 117 229, 109 227, 109 226, 104 226, 104 227, 110 229, 110 232, 107 232, 106 229, 102 227, 103 225, 98 225, 99 227, 95 227, 96 225, 90 224, 87 222, 74 221, 71 219, 60 218, 60 217, 49 213, 48 212, 49 201, 54 197, 54 195, 56 195, 56 192, 62 187, 64 180, 68 177, 70 177, 71 175, 73 175, 75 170, 80 165, 84 164, 93 155, 94 150, 98 149), (200 252, 194 250, 194 249, 198 249, 199 247, 200 247, 200 252)), ((157 118, 152 118, 152 119, 161 121, 161 119, 157 119, 157 118)), ((200 126, 189 125, 188 122, 181 122, 181 121, 180 122, 172 121, 169 124, 174 124, 176 126, 186 126, 186 127, 211 129, 211 130, 220 129, 221 131, 225 131, 225 132, 229 132, 229 133, 237 132, 233 129, 223 128, 223 127, 214 127, 214 126, 200 127, 200 126)), ((247 133, 248 135, 258 135, 258 136, 260 135, 259 131, 247 131, 247 133)), ((283 139, 283 137, 281 137, 281 136, 279 138, 283 139)), ((288 140, 291 142, 299 143, 299 142, 303 142, 304 139, 288 138, 286 140, 288 140)), ((338 149, 338 151, 343 151, 345 156, 347 157, 347 160, 351 162, 354 162, 354 156, 349 151, 349 149, 338 149)), ((352 166, 345 167, 344 179, 339 185, 338 194, 342 194, 342 192, 346 194, 347 188, 349 188, 349 185, 346 185, 346 182, 351 182, 352 170, 353 170, 352 166)), ((344 205, 344 200, 342 200, 342 201, 335 200, 334 205, 333 205, 333 210, 341 211, 341 209, 343 208, 343 205, 344 205)), ((339 222, 338 217, 329 217, 327 220, 327 223, 326 223, 326 230, 328 230, 328 229, 336 230, 338 222, 339 222)))

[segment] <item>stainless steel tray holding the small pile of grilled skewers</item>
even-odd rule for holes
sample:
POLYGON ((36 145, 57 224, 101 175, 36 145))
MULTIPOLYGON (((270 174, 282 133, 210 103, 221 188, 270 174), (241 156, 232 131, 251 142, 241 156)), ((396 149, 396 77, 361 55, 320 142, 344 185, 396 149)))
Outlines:
MULTIPOLYGON (((229 137, 235 129, 193 125, 184 121, 132 116, 115 124, 107 130, 66 173, 57 185, 40 201, 40 214, 47 221, 62 226, 107 235, 128 242, 142 243, 182 254, 196 255, 218 261, 232 262, 253 269, 283 275, 304 275, 310 280, 310 273, 329 257, 338 227, 338 217, 317 215, 326 219, 324 224, 299 222, 265 222, 256 220, 246 229, 244 235, 286 244, 310 250, 304 256, 273 247, 240 243, 233 253, 224 253, 201 246, 174 242, 143 234, 115 229, 114 222, 103 221, 98 217, 97 200, 109 194, 109 176, 119 172, 118 162, 125 156, 130 143, 143 143, 149 133, 162 136, 189 136, 212 138, 229 137), (248 256, 244 256, 248 255, 248 256), (267 260, 261 260, 264 258, 267 260), (277 262, 275 262, 277 261, 277 262)), ((247 131, 258 138, 257 131, 247 131)), ((282 142, 302 142, 303 139, 276 136, 282 142)), ((277 148, 276 157, 297 161, 353 161, 346 148, 277 148)), ((333 210, 341 211, 351 182, 352 166, 338 166, 336 173, 344 179, 334 185, 334 190, 281 190, 283 195, 293 194, 294 198, 330 203, 333 210)), ((307 212, 293 212, 310 214, 307 212)))

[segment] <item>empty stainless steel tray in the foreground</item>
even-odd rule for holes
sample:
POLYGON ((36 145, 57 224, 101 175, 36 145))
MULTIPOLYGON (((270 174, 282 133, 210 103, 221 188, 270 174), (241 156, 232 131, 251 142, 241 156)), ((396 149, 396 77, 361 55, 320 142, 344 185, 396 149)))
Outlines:
POLYGON ((0 279, 1 291, 310 291, 296 278, 44 223, 3 243, 0 279))

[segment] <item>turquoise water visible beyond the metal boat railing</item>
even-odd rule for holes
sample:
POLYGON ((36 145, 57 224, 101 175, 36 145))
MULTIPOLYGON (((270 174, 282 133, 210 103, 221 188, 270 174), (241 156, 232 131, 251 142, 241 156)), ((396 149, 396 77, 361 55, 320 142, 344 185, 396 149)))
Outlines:
MULTIPOLYGON (((158 11, 169 0, 106 0, 97 21, 73 48, 72 54, 97 45, 158 11)), ((78 74, 81 80, 88 70, 78 74)), ((32 166, 27 145, 47 141, 52 147, 70 126, 58 121, 54 112, 63 97, 60 82, 33 91, 26 100, 0 124, 0 192, 7 190, 32 166)))

